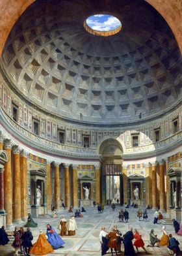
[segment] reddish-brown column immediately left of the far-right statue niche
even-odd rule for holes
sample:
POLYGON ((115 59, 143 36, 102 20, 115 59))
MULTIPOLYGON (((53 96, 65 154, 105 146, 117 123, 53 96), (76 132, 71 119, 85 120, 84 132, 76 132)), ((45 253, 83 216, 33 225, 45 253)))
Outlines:
POLYGON ((164 161, 159 163, 160 191, 159 203, 161 212, 165 212, 165 186, 164 186, 164 161))

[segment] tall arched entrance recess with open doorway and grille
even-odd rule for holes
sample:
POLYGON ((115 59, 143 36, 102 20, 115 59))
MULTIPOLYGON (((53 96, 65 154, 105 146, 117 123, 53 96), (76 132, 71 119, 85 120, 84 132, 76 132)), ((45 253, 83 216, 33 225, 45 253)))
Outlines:
POLYGON ((101 157, 101 200, 114 199, 123 204, 123 148, 115 138, 104 140, 99 146, 101 157))

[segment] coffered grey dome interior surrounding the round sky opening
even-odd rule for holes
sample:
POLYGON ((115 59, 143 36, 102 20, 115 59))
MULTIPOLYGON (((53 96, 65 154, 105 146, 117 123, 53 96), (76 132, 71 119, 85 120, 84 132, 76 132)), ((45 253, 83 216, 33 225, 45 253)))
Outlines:
POLYGON ((36 1, 10 32, 2 69, 27 103, 107 124, 155 118, 179 103, 179 60, 170 28, 145 1, 36 1), (94 14, 115 16, 122 29, 88 33, 94 14))

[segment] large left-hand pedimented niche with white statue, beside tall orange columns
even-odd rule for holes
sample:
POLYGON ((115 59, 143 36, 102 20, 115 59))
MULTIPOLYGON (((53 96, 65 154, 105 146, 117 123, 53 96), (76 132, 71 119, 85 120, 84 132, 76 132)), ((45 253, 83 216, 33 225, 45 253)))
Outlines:
POLYGON ((47 170, 44 167, 35 168, 30 173, 31 184, 29 195, 31 196, 31 214, 34 217, 38 217, 47 213, 45 185, 47 170))

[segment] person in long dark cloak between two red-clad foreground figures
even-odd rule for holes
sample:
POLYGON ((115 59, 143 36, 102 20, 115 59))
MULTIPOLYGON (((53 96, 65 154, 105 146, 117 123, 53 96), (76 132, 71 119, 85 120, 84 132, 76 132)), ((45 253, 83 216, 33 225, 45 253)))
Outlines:
POLYGON ((130 231, 127 231, 123 235, 123 245, 125 248, 124 255, 125 256, 135 256, 135 249, 133 248, 132 240, 133 240, 133 228, 131 227, 130 231))

